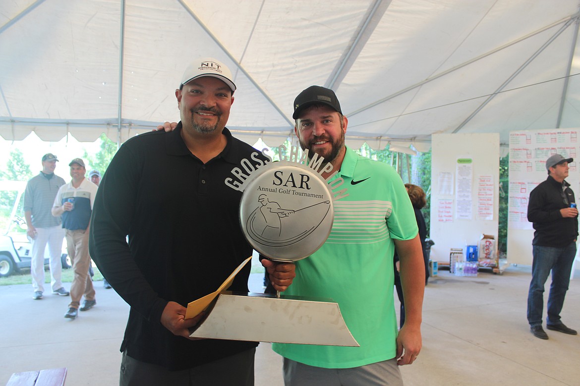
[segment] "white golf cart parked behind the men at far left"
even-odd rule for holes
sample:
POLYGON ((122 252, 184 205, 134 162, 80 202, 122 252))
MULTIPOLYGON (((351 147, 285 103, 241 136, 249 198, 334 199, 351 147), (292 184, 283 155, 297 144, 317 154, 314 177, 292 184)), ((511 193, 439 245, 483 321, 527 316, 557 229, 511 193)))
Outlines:
MULTIPOLYGON (((10 276, 21 269, 30 269, 32 244, 26 234, 26 221, 17 214, 19 210, 22 212, 19 204, 24 189, 24 181, 0 181, 0 194, 6 192, 8 194, 4 194, 4 197, 14 197, 8 216, 2 219, 5 231, 0 234, 0 277, 10 276)), ((70 268, 66 253, 61 253, 60 259, 63 268, 70 268)), ((48 248, 45 250, 44 264, 45 268, 49 265, 48 248)))

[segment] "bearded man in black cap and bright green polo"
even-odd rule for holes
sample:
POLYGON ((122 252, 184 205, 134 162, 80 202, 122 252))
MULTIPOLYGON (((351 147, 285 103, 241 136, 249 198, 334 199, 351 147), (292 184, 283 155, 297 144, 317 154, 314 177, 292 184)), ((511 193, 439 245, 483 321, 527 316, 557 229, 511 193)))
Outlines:
POLYGON ((349 195, 335 201, 328 240, 309 258, 296 262, 296 278, 284 293, 331 297, 360 347, 275 343, 273 350, 284 356, 285 384, 402 385, 398 365, 413 363, 421 349, 425 287, 421 244, 407 190, 393 168, 345 146, 348 120, 332 90, 311 86, 302 91, 292 117, 302 149, 332 164, 332 172, 338 171, 333 179, 342 177, 349 195), (395 247, 401 258, 407 311, 398 333, 395 247))

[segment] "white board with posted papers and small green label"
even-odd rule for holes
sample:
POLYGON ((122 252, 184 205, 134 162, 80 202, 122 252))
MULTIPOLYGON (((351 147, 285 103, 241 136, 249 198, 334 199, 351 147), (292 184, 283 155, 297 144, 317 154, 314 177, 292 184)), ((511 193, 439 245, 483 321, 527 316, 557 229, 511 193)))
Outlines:
POLYGON ((433 134, 430 258, 448 262, 451 248, 498 237, 499 134, 433 134))

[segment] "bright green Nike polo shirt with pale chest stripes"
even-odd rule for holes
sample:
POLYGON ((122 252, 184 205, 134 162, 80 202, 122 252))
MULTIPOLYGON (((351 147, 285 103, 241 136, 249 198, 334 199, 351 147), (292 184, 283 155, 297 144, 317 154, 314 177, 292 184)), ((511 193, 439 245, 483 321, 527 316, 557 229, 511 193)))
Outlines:
POLYGON ((285 358, 326 368, 394 358, 393 240, 418 233, 407 190, 392 167, 347 148, 334 178, 339 177, 345 182, 337 189, 347 188, 348 196, 334 201, 331 234, 318 251, 296 262, 296 278, 284 294, 333 299, 360 347, 273 344, 285 358))

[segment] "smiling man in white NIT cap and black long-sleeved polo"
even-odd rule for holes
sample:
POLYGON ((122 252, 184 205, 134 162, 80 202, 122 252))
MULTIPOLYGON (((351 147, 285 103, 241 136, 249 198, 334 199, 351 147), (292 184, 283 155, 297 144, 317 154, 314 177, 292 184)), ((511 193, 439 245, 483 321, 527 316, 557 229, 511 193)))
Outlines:
MULTIPOLYGON (((224 181, 242 160, 266 160, 225 127, 232 79, 213 58, 194 61, 175 91, 176 129, 129 139, 100 183, 90 255, 131 306, 121 385, 253 385, 257 343, 193 340, 188 329, 199 318, 184 319, 187 303, 215 291, 252 254, 238 220, 241 192, 224 181)), ((284 291, 293 264, 266 264, 284 291)), ((232 291, 248 291, 249 270, 232 291)))

